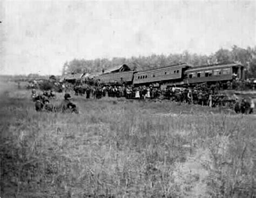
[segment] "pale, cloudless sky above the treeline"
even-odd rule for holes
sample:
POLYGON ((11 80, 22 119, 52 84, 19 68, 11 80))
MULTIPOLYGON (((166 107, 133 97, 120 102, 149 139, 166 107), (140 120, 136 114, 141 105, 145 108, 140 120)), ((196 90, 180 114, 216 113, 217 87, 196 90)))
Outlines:
POLYGON ((74 58, 211 54, 256 45, 256 1, 0 1, 2 74, 74 58))

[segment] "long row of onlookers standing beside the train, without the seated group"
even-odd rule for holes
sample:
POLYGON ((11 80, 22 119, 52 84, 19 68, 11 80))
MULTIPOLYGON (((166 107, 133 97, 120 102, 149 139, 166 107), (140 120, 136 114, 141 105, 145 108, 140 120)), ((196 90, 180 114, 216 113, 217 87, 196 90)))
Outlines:
MULTIPOLYGON (((86 98, 100 99, 105 97, 125 97, 126 99, 167 99, 175 101, 178 104, 198 104, 202 106, 227 106, 233 108, 235 105, 239 108, 245 109, 245 111, 240 111, 242 113, 252 113, 254 108, 253 100, 250 98, 243 98, 239 101, 238 97, 233 95, 229 97, 226 94, 220 93, 223 89, 219 84, 212 86, 207 86, 206 84, 201 84, 194 88, 177 88, 172 87, 154 87, 150 86, 117 86, 117 85, 98 85, 98 86, 82 86, 76 85, 74 87, 75 94, 86 95, 86 98), (239 104, 239 105, 238 105, 239 104)), ((239 111, 237 111, 239 112, 239 111)))

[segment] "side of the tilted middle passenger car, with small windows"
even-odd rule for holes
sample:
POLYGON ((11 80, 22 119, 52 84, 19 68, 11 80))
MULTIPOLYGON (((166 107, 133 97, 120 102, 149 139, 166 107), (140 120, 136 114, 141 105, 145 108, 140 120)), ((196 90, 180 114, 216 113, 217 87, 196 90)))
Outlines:
POLYGON ((172 66, 134 73, 133 84, 180 79, 183 67, 184 66, 172 66))

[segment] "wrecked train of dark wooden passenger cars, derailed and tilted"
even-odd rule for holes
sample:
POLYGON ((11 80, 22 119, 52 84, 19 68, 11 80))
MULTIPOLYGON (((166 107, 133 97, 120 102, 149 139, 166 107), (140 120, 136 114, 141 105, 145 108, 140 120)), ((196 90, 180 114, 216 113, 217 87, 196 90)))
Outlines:
MULTIPOLYGON (((124 66, 124 65, 123 65, 124 66)), ((201 83, 215 84, 231 81, 233 78, 244 80, 245 69, 240 63, 218 63, 191 66, 179 63, 148 70, 131 70, 127 65, 118 70, 95 76, 100 84, 142 85, 176 85, 196 86, 201 83), (125 69, 124 69, 125 68, 125 69)))

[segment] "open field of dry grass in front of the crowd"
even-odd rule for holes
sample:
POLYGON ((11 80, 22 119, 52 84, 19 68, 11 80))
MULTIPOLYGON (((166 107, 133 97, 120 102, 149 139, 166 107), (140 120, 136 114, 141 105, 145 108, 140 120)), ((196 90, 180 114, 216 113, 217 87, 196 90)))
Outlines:
POLYGON ((36 112, 30 91, 1 84, 3 197, 253 196, 255 115, 72 100, 79 114, 36 112))

